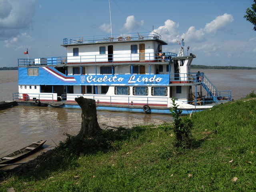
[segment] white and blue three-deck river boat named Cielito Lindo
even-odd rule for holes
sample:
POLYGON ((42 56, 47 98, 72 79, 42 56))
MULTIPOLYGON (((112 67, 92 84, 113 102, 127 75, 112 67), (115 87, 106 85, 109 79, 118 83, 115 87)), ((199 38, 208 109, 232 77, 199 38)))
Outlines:
POLYGON ((80 108, 75 98, 83 96, 94 99, 97 110, 152 114, 170 114, 172 97, 182 114, 231 100, 231 91, 190 72, 196 56, 184 54, 183 39, 178 53, 163 52, 166 45, 156 32, 64 38, 66 56, 18 59, 13 99, 80 108))

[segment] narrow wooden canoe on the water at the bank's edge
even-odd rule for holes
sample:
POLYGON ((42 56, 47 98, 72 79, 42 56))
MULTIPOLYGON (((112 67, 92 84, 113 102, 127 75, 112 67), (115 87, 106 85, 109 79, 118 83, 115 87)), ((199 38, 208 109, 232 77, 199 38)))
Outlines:
POLYGON ((11 154, 8 154, 2 158, 0 158, 0 164, 10 164, 11 162, 18 161, 28 154, 34 153, 36 150, 38 150, 46 141, 38 141, 33 142, 32 144, 21 148, 20 150, 14 151, 11 154))

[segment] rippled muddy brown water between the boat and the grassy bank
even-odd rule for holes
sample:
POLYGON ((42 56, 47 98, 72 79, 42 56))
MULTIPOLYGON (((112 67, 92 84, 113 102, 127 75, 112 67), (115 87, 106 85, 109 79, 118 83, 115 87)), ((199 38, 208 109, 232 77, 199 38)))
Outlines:
MULTIPOLYGON (((98 111, 99 125, 122 126, 172 122, 168 115, 133 114, 98 111)), ((64 133, 76 135, 81 128, 81 110, 50 107, 15 106, 0 110, 0 156, 39 140, 52 147, 63 141, 64 133), (54 143, 55 142, 55 143, 54 143)))

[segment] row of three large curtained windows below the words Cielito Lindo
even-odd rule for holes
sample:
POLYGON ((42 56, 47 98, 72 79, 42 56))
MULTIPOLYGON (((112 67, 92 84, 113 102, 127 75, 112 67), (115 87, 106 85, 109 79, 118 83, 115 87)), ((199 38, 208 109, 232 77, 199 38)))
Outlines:
MULTIPOLYGON (((167 87, 152 87, 152 96, 167 96, 167 87)), ((132 94, 136 96, 148 96, 148 87, 136 86, 132 88, 132 94)), ((115 86, 115 95, 130 95, 129 86, 115 86)))

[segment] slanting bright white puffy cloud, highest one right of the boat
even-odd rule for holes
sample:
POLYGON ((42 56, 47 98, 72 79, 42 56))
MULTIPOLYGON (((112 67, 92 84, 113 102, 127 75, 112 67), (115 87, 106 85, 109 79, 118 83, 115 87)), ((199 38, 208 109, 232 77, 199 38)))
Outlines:
POLYGON ((204 30, 206 33, 215 35, 217 30, 222 30, 233 21, 233 16, 225 13, 224 15, 216 17, 212 22, 207 23, 204 30))

